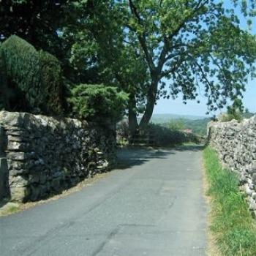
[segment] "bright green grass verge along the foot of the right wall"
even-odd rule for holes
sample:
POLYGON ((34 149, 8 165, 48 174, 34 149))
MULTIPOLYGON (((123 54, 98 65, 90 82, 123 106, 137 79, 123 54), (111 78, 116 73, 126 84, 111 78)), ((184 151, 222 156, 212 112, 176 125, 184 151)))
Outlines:
POLYGON ((206 177, 211 197, 211 232, 225 256, 255 256, 255 220, 248 210, 244 195, 239 192, 238 177, 225 170, 211 148, 203 151, 206 177))

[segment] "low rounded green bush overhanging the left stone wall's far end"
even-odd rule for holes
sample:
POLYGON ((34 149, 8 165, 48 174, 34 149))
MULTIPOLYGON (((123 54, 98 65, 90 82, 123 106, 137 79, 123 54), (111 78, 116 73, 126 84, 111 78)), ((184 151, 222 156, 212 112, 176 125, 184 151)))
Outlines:
POLYGON ((128 95, 116 87, 81 84, 72 89, 69 102, 74 115, 79 118, 118 121, 124 115, 127 99, 128 95))

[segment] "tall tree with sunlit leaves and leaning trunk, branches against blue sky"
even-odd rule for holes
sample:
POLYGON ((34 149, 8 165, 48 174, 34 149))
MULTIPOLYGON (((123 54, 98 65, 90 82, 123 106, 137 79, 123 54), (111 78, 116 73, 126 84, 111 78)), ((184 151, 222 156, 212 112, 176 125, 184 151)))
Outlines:
MULTIPOLYGON (((238 1, 233 1, 233 4, 238 1)), ((223 1, 118 1, 124 31, 133 34, 146 61, 150 83, 140 127, 148 124, 157 99, 196 99, 204 87, 209 110, 227 99, 238 102, 249 73, 255 74, 256 42, 239 27, 234 8, 223 1), (167 80, 168 88, 165 86, 167 80)), ((244 15, 254 16, 255 1, 242 1, 244 15)))

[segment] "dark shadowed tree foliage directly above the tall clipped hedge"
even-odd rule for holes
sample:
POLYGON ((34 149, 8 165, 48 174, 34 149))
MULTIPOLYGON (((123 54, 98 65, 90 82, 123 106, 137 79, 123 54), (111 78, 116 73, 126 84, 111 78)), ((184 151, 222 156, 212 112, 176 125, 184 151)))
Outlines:
POLYGON ((68 0, 0 1, 0 41, 18 35, 35 48, 42 48, 60 57, 61 40, 56 31, 66 20, 68 0))

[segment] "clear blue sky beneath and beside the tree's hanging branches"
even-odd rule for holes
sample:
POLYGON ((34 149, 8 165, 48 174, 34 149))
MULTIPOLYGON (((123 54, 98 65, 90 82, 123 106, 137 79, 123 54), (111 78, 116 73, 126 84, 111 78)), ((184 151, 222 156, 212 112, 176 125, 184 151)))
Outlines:
MULTIPOLYGON (((246 29, 246 20, 239 13, 238 16, 241 18, 241 28, 246 29)), ((251 32, 252 34, 256 34, 256 18, 252 18, 251 32)), ((174 113, 178 115, 206 116, 206 98, 199 96, 198 99, 200 100, 200 104, 194 100, 188 101, 187 105, 182 103, 182 97, 178 97, 178 99, 159 99, 157 105, 154 108, 154 113, 174 113)), ((244 106, 248 108, 250 112, 256 113, 256 79, 250 80, 246 86, 246 92, 244 93, 244 106)), ((219 111, 217 111, 217 114, 218 113, 219 111)))

